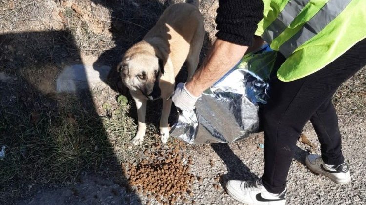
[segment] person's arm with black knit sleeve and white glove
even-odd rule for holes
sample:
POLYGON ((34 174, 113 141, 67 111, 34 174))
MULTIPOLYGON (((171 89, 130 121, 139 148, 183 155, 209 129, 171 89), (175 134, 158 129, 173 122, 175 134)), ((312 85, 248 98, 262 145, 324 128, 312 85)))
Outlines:
POLYGON ((177 85, 172 100, 182 110, 194 109, 204 90, 213 85, 243 57, 254 43, 257 24, 263 17, 262 0, 219 0, 216 37, 203 65, 189 82, 177 85))

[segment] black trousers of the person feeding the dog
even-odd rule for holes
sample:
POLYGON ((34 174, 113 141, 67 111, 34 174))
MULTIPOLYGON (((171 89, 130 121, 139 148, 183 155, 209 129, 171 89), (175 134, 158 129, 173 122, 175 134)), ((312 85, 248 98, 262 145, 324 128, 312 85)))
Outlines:
POLYGON ((277 57, 261 120, 264 129, 264 187, 272 193, 285 190, 296 141, 310 120, 321 144, 326 164, 344 162, 338 119, 331 98, 337 88, 366 64, 366 39, 321 70, 298 80, 282 82, 276 68, 285 61, 277 57))

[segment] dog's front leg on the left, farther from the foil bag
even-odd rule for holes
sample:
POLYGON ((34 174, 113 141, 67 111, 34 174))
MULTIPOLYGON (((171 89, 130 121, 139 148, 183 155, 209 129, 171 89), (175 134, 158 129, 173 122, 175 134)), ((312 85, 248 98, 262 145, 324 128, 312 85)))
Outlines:
POLYGON ((136 108, 137 108, 137 119, 139 121, 137 125, 137 133, 136 136, 132 139, 132 143, 134 145, 142 145, 143 138, 146 134, 146 123, 145 123, 145 117, 146 117, 146 104, 147 100, 144 98, 139 98, 134 95, 132 97, 135 100, 136 108))

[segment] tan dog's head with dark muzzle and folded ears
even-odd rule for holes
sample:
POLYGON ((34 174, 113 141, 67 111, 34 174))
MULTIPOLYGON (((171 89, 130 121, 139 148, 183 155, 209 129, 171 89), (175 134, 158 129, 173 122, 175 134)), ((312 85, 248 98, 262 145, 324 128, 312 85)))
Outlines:
POLYGON ((163 60, 149 53, 135 53, 125 55, 117 69, 130 91, 141 92, 149 100, 160 98, 159 79, 164 74, 163 60))

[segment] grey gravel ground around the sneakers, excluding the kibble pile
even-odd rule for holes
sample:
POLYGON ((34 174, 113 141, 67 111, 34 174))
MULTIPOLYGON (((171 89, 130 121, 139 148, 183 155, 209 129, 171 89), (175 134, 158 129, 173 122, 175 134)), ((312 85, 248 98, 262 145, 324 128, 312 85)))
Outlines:
MULTIPOLYGON (((311 147, 298 142, 298 150, 288 176, 287 205, 361 205, 366 203, 365 153, 366 132, 364 119, 360 116, 342 116, 339 118, 343 135, 343 152, 351 169, 352 181, 347 185, 338 185, 324 176, 313 174, 305 167, 305 156, 311 147)), ((310 123, 306 124, 304 134, 317 145, 313 151, 319 154, 320 148, 316 134, 310 123)), ((193 197, 185 204, 240 204, 223 189, 230 179, 254 180, 261 176, 264 168, 263 149, 257 148, 263 143, 263 133, 232 144, 194 145, 190 151, 194 164, 191 173, 201 177, 193 185, 193 197), (211 160, 211 161, 210 161, 211 160), (214 178, 220 176, 219 182, 214 178), (214 188, 218 184, 219 188, 214 188)), ((138 193, 127 192, 115 184, 112 179, 95 175, 84 175, 83 180, 71 187, 56 190, 39 190, 29 199, 17 204, 147 204, 148 199, 138 193)), ((151 204, 158 204, 155 200, 151 204)), ((176 204, 181 204, 178 202, 176 204)))

